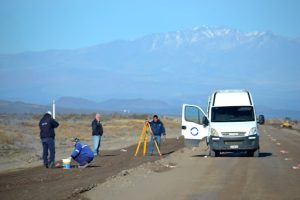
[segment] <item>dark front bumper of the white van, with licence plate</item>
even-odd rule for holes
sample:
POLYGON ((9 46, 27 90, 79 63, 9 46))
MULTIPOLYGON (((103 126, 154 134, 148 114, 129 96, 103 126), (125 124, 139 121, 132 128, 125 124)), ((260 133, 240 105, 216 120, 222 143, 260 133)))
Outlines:
POLYGON ((209 145, 217 151, 249 151, 259 149, 259 136, 247 137, 209 137, 209 145))

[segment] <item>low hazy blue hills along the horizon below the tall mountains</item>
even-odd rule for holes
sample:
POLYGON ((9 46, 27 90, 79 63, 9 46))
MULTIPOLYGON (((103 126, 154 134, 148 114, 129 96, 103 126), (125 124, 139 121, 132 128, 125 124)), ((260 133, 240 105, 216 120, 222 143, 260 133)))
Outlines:
MULTIPOLYGON (((95 113, 110 114, 159 114, 181 116, 181 104, 175 106, 159 100, 144 99, 111 99, 103 102, 94 102, 83 98, 61 97, 56 101, 58 113, 95 113)), ((204 107, 203 107, 204 108, 204 107)), ((44 113, 52 110, 52 105, 37 105, 25 102, 11 102, 0 100, 0 113, 44 113)), ((263 114, 266 118, 300 119, 300 110, 273 109, 265 106, 256 106, 256 114, 263 114)))

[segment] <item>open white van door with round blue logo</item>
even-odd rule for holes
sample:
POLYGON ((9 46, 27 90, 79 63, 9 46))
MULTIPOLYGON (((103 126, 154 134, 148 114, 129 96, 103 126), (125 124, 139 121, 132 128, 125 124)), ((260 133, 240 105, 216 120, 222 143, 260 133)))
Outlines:
POLYGON ((208 135, 208 126, 205 126, 207 117, 203 110, 195 105, 183 104, 182 130, 187 146, 199 146, 200 140, 208 135))

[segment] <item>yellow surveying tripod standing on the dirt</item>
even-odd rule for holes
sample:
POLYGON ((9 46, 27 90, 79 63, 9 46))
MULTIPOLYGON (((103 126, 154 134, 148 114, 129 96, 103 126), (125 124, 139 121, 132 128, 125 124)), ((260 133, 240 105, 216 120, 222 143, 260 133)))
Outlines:
POLYGON ((154 134, 153 134, 153 131, 152 131, 152 128, 150 126, 150 123, 147 121, 145 124, 144 124, 144 127, 143 127, 143 130, 142 130, 142 134, 140 136, 140 139, 139 139, 139 142, 138 142, 138 146, 136 147, 136 151, 135 151, 135 154, 134 156, 137 156, 138 153, 139 153, 139 149, 140 149, 140 146, 141 146, 141 143, 144 142, 144 151, 143 151, 143 155, 145 156, 146 155, 146 151, 147 151, 147 142, 148 142, 148 134, 150 133, 150 136, 152 137, 153 141, 154 141, 154 144, 155 144, 155 147, 157 149, 157 152, 158 154, 161 156, 161 153, 160 153, 160 150, 159 150, 159 147, 158 147, 158 144, 156 142, 156 139, 154 137, 154 134))

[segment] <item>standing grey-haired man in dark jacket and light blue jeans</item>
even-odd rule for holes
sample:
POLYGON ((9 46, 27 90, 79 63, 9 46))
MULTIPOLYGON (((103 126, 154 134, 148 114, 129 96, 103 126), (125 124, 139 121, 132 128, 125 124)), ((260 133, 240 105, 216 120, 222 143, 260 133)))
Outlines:
POLYGON ((99 155, 99 148, 101 143, 101 137, 103 135, 103 127, 101 124, 101 115, 99 113, 96 114, 95 119, 92 122, 92 135, 93 135, 93 152, 94 155, 99 155))

